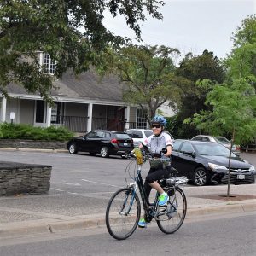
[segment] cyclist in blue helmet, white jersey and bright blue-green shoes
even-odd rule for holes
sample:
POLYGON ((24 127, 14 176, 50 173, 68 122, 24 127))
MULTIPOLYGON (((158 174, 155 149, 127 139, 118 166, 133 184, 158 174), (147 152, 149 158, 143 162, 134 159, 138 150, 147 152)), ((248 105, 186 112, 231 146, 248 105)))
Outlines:
MULTIPOLYGON (((166 127, 166 119, 163 116, 154 116, 154 118, 151 120, 151 127, 153 129, 153 135, 146 138, 143 143, 139 145, 139 148, 150 146, 150 151, 154 155, 154 160, 150 160, 150 170, 145 179, 144 188, 148 198, 151 189, 156 189, 160 194, 158 204, 160 207, 164 207, 168 201, 168 195, 161 188, 158 180, 164 177, 169 177, 170 168, 168 168, 166 165, 170 165, 172 138, 168 133, 163 132, 166 127), (161 153, 163 148, 166 148, 166 153, 161 153), (164 165, 164 163, 166 163, 166 165, 164 165)), ((146 216, 144 214, 144 218, 141 218, 138 222, 138 226, 141 228, 146 226, 145 217, 146 216)))

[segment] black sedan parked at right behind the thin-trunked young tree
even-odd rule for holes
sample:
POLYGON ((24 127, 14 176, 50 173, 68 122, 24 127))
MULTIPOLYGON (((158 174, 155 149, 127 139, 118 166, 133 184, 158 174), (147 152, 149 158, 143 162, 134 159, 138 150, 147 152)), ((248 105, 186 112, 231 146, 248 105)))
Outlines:
MULTIPOLYGON (((230 150, 219 143, 176 140, 173 143, 172 166, 197 186, 228 183, 230 150)), ((230 183, 255 182, 255 167, 231 154, 230 183)))

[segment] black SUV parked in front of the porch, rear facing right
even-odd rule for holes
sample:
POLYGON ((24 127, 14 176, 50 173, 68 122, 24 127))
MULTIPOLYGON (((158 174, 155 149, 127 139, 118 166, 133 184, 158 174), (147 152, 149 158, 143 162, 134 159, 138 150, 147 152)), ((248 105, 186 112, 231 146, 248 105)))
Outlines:
POLYGON ((89 152, 91 155, 119 154, 127 157, 133 149, 133 141, 125 132, 96 130, 86 133, 83 137, 73 137, 67 143, 70 154, 89 152))

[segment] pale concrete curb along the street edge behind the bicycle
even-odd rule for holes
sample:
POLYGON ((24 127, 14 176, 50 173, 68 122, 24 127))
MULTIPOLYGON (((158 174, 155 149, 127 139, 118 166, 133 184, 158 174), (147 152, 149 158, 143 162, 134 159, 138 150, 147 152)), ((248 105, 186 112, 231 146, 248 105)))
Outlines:
MULTIPOLYGON (((255 212, 256 203, 228 203, 225 205, 189 208, 186 218, 198 218, 200 216, 209 216, 223 213, 236 212, 255 212)), ((35 234, 55 234, 67 230, 91 229, 105 226, 105 214, 97 214, 96 218, 93 216, 80 216, 78 219, 72 220, 38 220, 34 223, 12 223, 0 224, 0 238, 13 236, 28 236, 35 234)))

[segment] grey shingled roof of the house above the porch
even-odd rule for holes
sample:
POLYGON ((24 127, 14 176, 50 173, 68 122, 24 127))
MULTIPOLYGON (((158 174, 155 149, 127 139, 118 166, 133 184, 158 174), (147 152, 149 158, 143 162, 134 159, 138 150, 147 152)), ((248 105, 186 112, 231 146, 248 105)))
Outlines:
MULTIPOLYGON (((81 73, 77 78, 73 73, 64 73, 61 79, 54 82, 56 88, 51 95, 70 99, 83 99, 84 101, 123 102, 122 88, 117 77, 106 76, 101 79, 96 73, 81 73)), ((7 90, 15 95, 31 95, 17 84, 9 84, 7 90)))

